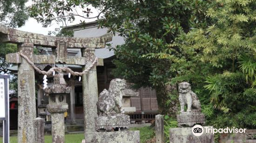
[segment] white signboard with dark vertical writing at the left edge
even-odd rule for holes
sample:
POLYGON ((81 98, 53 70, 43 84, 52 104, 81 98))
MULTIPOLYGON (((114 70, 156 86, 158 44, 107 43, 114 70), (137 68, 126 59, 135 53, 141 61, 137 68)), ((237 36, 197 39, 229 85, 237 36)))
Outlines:
POLYGON ((5 106, 5 79, 0 78, 0 117, 6 117, 5 106))

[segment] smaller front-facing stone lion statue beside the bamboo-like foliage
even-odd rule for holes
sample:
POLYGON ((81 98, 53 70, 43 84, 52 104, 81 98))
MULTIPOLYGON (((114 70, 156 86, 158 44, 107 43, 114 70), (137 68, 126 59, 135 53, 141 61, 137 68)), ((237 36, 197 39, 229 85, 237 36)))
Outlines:
POLYGON ((201 104, 197 97, 197 94, 191 91, 190 84, 187 82, 181 82, 179 84, 179 101, 181 106, 181 112, 184 112, 185 105, 187 105, 186 112, 201 111, 201 104))

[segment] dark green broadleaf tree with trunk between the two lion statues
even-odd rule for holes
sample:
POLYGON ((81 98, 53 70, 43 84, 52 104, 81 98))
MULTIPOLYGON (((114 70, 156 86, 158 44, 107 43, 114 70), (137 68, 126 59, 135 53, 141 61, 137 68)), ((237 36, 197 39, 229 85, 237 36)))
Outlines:
MULTIPOLYGON (((116 47, 117 66, 115 75, 125 78, 137 86, 151 86, 157 91, 160 112, 170 111, 169 86, 165 83, 174 76, 170 70, 171 60, 164 57, 147 58, 144 55, 159 53, 175 54, 177 47, 171 47, 181 32, 190 28, 206 27, 204 12, 208 7, 206 1, 180 0, 133 0, 133 1, 46 1, 33 0, 31 16, 50 25, 53 20, 74 20, 76 16, 90 17, 87 5, 99 9, 98 23, 108 27, 109 32, 125 38, 125 44, 116 47), (84 9, 83 16, 75 8, 84 9), (104 17, 101 17, 101 14, 104 17)), ((174 94, 172 94, 174 95, 174 94)), ((177 94, 175 94, 177 97, 177 94)), ((177 98, 176 98, 177 99, 177 98)))

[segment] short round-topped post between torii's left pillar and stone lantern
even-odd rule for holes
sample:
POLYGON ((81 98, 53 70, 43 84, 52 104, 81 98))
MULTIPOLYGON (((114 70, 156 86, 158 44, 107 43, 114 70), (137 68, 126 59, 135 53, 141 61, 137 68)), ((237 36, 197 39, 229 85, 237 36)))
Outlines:
POLYGON ((35 143, 45 143, 44 119, 37 117, 34 120, 35 143))

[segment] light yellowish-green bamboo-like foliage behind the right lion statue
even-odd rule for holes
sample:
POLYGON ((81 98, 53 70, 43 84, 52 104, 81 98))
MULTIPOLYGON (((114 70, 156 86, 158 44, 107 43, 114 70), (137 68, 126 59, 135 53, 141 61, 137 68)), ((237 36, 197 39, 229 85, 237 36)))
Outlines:
MULTIPOLYGON (((172 46, 179 59, 171 66, 172 84, 192 83, 208 124, 216 128, 256 127, 256 1, 213 1, 211 25, 182 33, 172 46)), ((155 56, 156 57, 156 56, 155 56)))

